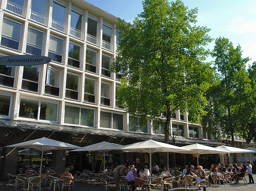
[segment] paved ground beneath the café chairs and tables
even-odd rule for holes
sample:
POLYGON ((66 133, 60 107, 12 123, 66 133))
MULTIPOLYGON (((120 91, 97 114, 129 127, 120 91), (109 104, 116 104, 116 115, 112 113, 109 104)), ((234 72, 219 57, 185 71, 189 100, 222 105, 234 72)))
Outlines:
MULTIPOLYGON (((256 175, 253 175, 253 179, 256 182, 256 175)), ((246 177, 247 182, 249 181, 249 177, 246 177)), ((0 191, 15 191, 14 184, 11 182, 9 188, 7 188, 8 181, 0 181, 0 191)), ((22 190, 22 189, 17 189, 22 190)), ((34 190, 36 190, 34 188, 34 190)), ((48 185, 43 186, 42 191, 48 190, 48 185)), ((53 191, 53 188, 51 188, 53 191)), ((175 191, 184 191, 184 188, 174 188, 175 191)), ((192 190, 192 189, 191 189, 192 190)), ((201 189, 203 191, 203 189, 201 189)), ((207 190, 210 191, 256 191, 256 184, 244 184, 243 181, 240 181, 240 184, 226 184, 224 185, 218 185, 218 186, 210 186, 207 187, 207 190)), ((56 191, 59 191, 58 188, 56 188, 56 191)), ((105 191, 104 186, 96 185, 96 186, 87 186, 84 185, 82 182, 76 182, 75 188, 73 191, 105 191)), ((114 188, 109 188, 108 191, 115 191, 114 188)))

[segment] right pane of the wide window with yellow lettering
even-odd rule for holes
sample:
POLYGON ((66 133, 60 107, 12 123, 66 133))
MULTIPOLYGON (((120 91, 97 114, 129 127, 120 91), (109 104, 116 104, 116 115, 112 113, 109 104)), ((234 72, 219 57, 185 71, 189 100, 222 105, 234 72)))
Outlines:
POLYGON ((57 104, 41 102, 40 120, 57 121, 57 104))

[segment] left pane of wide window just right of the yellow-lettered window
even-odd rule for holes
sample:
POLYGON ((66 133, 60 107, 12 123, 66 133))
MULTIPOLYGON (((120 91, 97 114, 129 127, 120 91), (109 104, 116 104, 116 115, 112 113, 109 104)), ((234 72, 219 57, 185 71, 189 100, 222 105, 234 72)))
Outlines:
POLYGON ((79 118, 80 118, 80 108, 65 105, 64 122, 66 124, 79 125, 79 118))

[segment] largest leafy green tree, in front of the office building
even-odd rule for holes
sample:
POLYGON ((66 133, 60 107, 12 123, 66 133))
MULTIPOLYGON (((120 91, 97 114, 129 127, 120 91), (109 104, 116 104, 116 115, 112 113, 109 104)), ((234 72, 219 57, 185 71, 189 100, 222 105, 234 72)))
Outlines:
POLYGON ((169 143, 172 114, 180 109, 198 122, 206 103, 204 92, 212 83, 212 69, 203 63, 212 39, 209 29, 196 26, 197 9, 181 1, 143 1, 144 11, 133 24, 119 19, 118 57, 111 71, 125 78, 118 88, 119 103, 138 126, 164 121, 164 142, 169 143))

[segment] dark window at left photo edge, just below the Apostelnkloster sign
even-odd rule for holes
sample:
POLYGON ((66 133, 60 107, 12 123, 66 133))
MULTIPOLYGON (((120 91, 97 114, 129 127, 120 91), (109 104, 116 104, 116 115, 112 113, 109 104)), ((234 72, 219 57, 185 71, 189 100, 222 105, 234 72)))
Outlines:
POLYGON ((13 87, 14 76, 15 76, 15 66, 0 65, 0 85, 1 86, 13 87))

